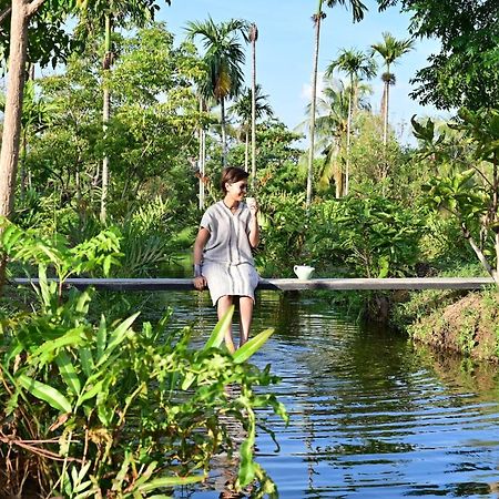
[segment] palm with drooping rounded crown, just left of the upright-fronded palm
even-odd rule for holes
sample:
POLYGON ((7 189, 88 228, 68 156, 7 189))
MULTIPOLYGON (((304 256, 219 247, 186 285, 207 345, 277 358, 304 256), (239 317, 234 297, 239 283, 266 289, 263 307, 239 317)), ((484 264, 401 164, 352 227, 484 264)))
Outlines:
POLYGON ((326 69, 326 77, 332 77, 335 70, 342 71, 349 79, 348 94, 348 121, 347 121, 347 150, 345 166, 345 194, 348 194, 349 186, 349 160, 350 160, 350 136, 352 118, 357 108, 358 82, 363 79, 370 80, 376 74, 376 63, 371 57, 360 50, 342 49, 337 59, 330 62, 326 69))

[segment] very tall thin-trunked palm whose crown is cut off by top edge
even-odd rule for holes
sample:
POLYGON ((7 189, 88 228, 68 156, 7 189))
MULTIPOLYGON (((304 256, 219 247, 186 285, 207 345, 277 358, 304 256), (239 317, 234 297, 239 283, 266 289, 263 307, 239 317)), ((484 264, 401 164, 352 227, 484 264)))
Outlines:
POLYGON ((307 207, 312 204, 312 183, 314 180, 314 135, 315 135, 315 109, 317 98, 317 67, 318 67, 318 53, 320 45, 320 23, 326 18, 326 13, 323 10, 323 4, 326 7, 335 7, 342 4, 352 8, 352 14, 354 22, 364 19, 364 12, 367 7, 360 0, 318 0, 317 10, 312 17, 315 28, 315 43, 314 43, 314 59, 312 70, 312 112, 310 112, 310 126, 309 126, 309 150, 308 150, 308 175, 307 175, 307 207))

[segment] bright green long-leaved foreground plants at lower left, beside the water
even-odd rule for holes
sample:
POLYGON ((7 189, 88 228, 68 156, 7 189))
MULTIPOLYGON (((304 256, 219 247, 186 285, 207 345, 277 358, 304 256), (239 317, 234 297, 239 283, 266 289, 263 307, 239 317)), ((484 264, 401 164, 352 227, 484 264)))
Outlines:
POLYGON ((93 292, 61 295, 47 266, 54 265, 61 279, 72 267, 105 273, 105 253, 113 257, 115 245, 112 232, 74 251, 13 225, 3 233, 1 247, 10 259, 40 269, 33 312, 0 320, 3 490, 22 495, 29 487, 68 498, 165 493, 202 480, 212 456, 231 455, 237 437, 245 439, 238 487, 257 480, 272 490, 253 460, 254 408, 286 415, 273 395, 254 391, 276 381, 269 367, 258 370, 245 361, 272 330, 231 355, 220 346, 232 310, 203 348, 190 346, 190 327, 174 330, 170 313, 157 324, 138 324, 139 313, 93 323, 93 292), (235 386, 238 393, 227 389, 235 386))

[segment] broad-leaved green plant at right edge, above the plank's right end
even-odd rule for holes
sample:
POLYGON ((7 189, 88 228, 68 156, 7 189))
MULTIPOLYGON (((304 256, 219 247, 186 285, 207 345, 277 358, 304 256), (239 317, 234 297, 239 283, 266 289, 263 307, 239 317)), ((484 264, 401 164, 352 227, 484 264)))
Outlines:
POLYGON ((455 144, 436 134, 435 124, 413 119, 415 135, 425 144, 421 153, 437 164, 458 164, 447 176, 436 176, 426 186, 428 203, 451 213, 483 268, 499 286, 499 111, 471 112, 461 109, 449 124, 465 134, 473 153, 469 169, 462 171, 455 144))

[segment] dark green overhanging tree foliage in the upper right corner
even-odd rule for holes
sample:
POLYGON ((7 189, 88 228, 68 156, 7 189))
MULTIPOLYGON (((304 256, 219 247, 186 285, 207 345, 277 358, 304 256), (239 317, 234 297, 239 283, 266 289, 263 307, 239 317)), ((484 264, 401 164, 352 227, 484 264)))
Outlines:
POLYGON ((451 110, 499 108, 496 0, 378 0, 380 8, 400 3, 413 13, 414 37, 440 42, 440 52, 416 73, 411 93, 422 104, 451 110))

